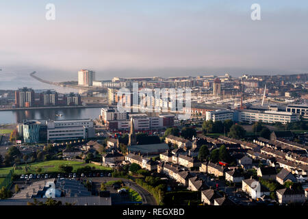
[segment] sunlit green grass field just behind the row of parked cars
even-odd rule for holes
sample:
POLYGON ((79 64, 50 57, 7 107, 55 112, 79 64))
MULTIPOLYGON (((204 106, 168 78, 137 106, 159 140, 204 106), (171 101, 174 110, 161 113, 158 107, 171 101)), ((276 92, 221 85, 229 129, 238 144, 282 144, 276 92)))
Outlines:
MULTIPOLYGON (((73 166, 73 172, 76 172, 78 168, 81 168, 84 166, 90 166, 91 168, 94 166, 96 170, 112 170, 112 168, 108 168, 105 166, 86 164, 83 162, 73 162, 73 161, 67 161, 67 160, 51 160, 48 162, 38 162, 38 163, 27 164, 27 168, 28 168, 27 171, 25 170, 26 165, 17 166, 17 168, 14 170, 14 175, 21 175, 21 174, 26 174, 26 173, 38 174, 39 173, 37 171, 38 168, 42 168, 41 173, 60 172, 59 170, 60 165, 73 166)), ((0 175, 8 174, 11 169, 12 169, 12 166, 8 168, 0 168, 0 175)))

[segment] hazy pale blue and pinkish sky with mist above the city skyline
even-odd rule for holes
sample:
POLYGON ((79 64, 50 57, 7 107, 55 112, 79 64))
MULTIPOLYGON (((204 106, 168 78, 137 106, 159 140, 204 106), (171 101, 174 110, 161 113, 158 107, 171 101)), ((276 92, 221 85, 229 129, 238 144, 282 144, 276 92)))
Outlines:
POLYGON ((81 68, 97 79, 307 73, 307 23, 304 0, 2 0, 0 68, 55 80, 81 68))

